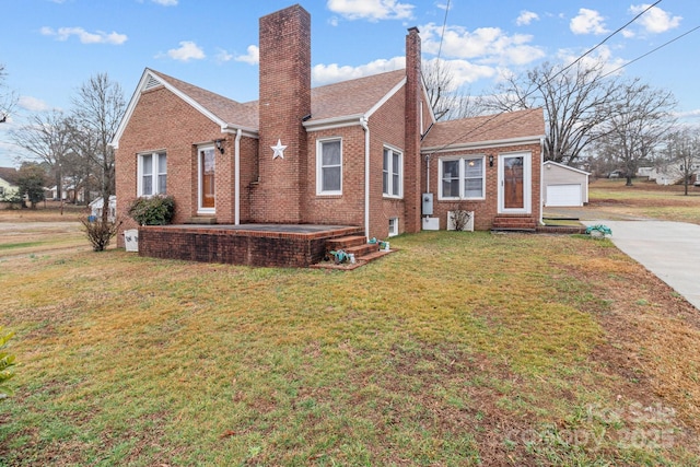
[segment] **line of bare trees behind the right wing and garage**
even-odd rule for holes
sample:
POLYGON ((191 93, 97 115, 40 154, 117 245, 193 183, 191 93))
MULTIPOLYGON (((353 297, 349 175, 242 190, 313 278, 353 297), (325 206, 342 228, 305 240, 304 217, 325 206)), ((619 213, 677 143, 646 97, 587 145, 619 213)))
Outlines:
POLYGON ((482 96, 460 93, 444 61, 429 62, 423 79, 438 119, 542 107, 545 160, 603 173, 617 168, 628 185, 640 166, 673 168, 687 190, 700 172, 700 130, 677 121, 673 93, 609 68, 592 59, 545 62, 508 75, 482 96))

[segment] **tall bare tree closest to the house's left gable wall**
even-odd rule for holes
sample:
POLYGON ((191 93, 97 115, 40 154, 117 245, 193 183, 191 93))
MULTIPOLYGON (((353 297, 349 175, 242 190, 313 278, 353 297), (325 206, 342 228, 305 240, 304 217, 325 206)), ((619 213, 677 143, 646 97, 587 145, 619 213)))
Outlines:
POLYGON ((91 77, 73 98, 73 150, 92 160, 98 170, 100 194, 107 224, 109 197, 115 192, 114 149, 109 145, 126 109, 119 83, 106 73, 91 77))

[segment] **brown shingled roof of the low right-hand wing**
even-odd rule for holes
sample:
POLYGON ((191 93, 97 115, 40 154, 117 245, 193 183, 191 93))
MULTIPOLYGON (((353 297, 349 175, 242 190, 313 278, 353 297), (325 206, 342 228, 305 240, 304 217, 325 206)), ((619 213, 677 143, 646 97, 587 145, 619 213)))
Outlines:
POLYGON ((541 108, 508 112, 497 115, 439 121, 429 129, 421 151, 454 151, 458 149, 504 145, 539 141, 545 137, 545 114, 541 108))

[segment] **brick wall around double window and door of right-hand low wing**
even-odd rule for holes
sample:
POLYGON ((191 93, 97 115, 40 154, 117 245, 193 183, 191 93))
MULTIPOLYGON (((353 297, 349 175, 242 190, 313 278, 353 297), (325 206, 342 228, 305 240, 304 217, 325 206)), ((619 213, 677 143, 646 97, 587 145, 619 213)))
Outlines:
MULTIPOLYGON (((468 151, 444 152, 433 154, 430 161, 430 189, 433 192, 433 218, 440 218, 440 229, 447 229, 447 211, 452 211, 458 205, 462 209, 474 211, 475 230, 486 231, 493 226, 493 218, 498 214, 498 165, 499 154, 512 152, 530 152, 532 159, 532 218, 540 218, 540 176, 541 161, 539 144, 512 145, 506 148, 474 149, 468 151), (439 199, 440 183, 439 170, 440 160, 443 157, 460 155, 485 155, 486 165, 486 199, 483 200, 444 200, 439 199), (493 166, 489 166, 489 155, 493 155, 493 166)), ((425 162, 423 162, 424 164, 425 162)), ((424 170, 424 166, 423 166, 424 170)))

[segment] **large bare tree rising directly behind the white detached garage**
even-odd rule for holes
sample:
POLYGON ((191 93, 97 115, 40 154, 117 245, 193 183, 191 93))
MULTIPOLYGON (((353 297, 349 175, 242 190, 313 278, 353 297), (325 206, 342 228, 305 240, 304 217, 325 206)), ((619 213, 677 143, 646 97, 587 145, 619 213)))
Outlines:
POLYGON ((603 61, 580 61, 570 68, 542 63, 500 84, 492 110, 542 107, 547 120, 545 159, 571 164, 602 136, 598 127, 620 98, 616 78, 606 77, 603 61))

